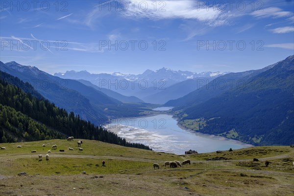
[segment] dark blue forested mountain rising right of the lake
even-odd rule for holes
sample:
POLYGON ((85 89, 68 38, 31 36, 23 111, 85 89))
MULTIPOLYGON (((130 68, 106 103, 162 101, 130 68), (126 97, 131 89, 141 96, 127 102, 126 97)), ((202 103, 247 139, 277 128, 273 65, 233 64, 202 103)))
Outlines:
POLYGON ((294 144, 294 55, 261 70, 220 76, 166 105, 177 106, 180 124, 202 133, 253 145, 294 144))

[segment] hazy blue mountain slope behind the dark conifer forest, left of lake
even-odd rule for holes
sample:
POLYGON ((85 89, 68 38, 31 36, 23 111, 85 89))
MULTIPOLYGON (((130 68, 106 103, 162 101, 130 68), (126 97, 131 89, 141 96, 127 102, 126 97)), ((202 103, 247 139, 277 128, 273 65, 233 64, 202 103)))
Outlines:
MULTIPOLYGON (((57 106, 73 111, 82 119, 95 124, 105 123, 109 118, 140 116, 141 112, 148 111, 146 104, 123 103, 77 80, 62 79, 40 71, 36 67, 23 66, 14 61, 5 64, 0 61, 0 71, 27 81, 43 97, 57 106)), ((107 90, 107 92, 111 94, 110 90, 107 90)), ((140 101, 140 99, 134 97, 131 97, 128 101, 126 96, 115 92, 112 94, 126 102, 140 101)))

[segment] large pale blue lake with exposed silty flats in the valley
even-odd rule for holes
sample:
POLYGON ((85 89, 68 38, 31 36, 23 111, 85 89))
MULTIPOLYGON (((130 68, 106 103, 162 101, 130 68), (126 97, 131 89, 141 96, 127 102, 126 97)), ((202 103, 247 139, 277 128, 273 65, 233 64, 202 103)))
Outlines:
POLYGON ((174 154, 185 154, 189 149, 204 153, 251 147, 236 140, 184 130, 167 114, 117 119, 104 127, 128 142, 142 143, 154 151, 174 154))

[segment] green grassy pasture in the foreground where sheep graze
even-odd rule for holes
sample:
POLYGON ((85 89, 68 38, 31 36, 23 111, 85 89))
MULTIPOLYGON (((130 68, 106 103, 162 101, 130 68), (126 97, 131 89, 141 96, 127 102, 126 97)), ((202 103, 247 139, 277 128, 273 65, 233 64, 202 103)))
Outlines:
POLYGON ((79 151, 77 141, 0 144, 6 147, 0 150, 0 195, 294 194, 294 148, 291 147, 249 147, 232 152, 175 155, 91 140, 83 140, 83 151, 79 151), (45 154, 54 144, 58 148, 51 149, 46 161, 45 154), (17 148, 18 145, 22 148, 17 148), (38 160, 38 154, 43 154, 42 161, 38 160), (222 160, 206 161, 216 157, 222 160), (260 161, 253 162, 253 158, 260 161), (190 159, 192 164, 174 169, 163 166, 164 161, 185 159, 190 159), (105 167, 101 165, 103 160, 105 167), (265 167, 264 160, 270 161, 269 167, 265 167), (160 164, 160 169, 153 169, 154 162, 160 164), (27 175, 18 176, 19 172, 27 175))

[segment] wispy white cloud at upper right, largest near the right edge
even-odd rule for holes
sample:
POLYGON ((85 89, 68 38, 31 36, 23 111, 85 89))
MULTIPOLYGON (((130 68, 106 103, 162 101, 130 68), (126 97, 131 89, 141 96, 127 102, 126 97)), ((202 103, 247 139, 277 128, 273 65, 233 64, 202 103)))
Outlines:
POLYGON ((281 8, 278 7, 269 7, 263 10, 256 10, 253 11, 250 15, 257 17, 257 18, 281 18, 293 15, 292 12, 283 11, 281 8))

